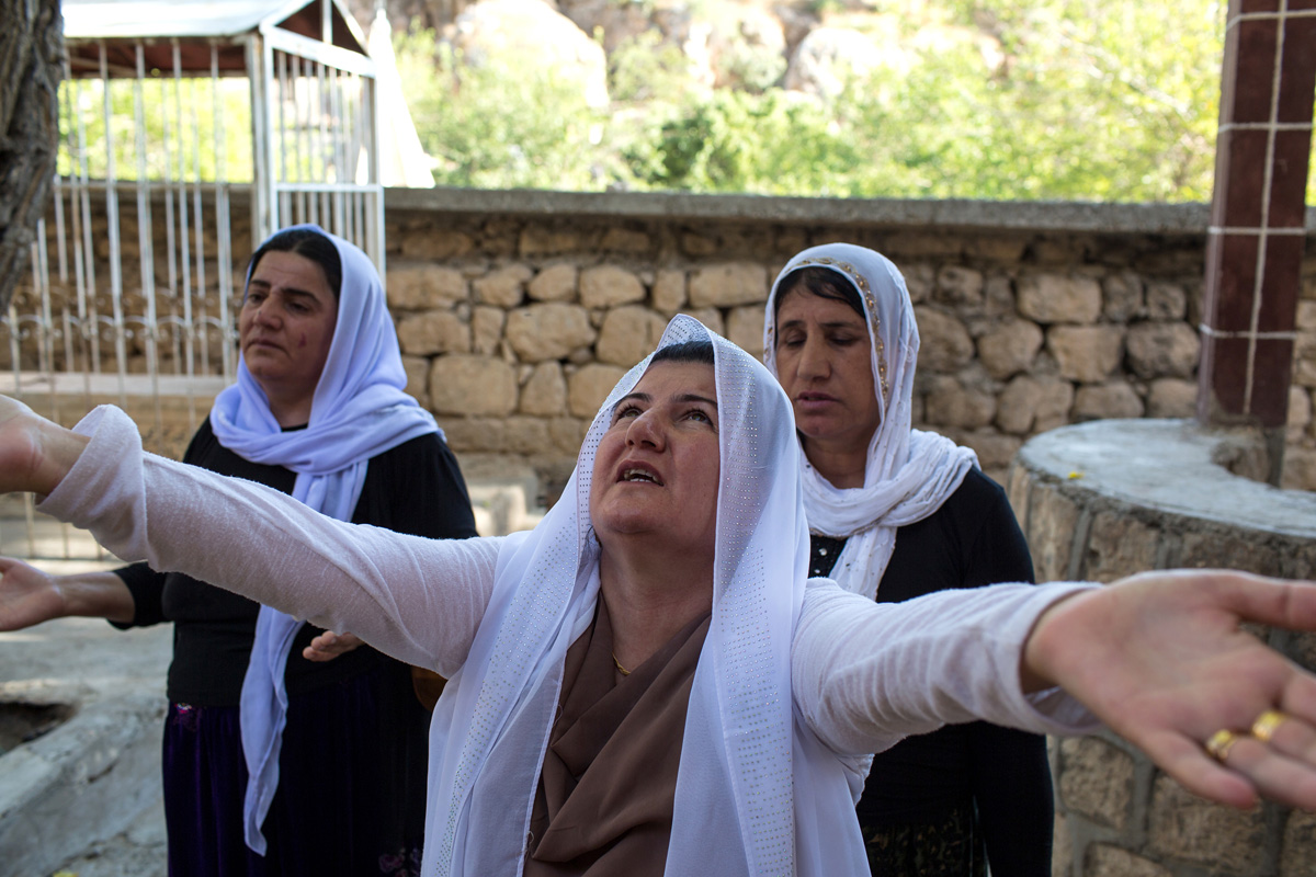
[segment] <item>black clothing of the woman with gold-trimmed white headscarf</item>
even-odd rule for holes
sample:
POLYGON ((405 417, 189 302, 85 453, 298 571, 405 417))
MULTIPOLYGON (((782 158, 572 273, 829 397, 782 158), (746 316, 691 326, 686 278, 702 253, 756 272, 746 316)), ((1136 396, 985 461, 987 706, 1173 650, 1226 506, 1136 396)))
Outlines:
MULTIPOLYGON (((812 536, 825 576, 844 539, 812 536)), ((978 469, 932 515, 896 530, 876 600, 1033 581, 1000 485, 978 469)), ((878 755, 857 807, 874 874, 1049 877, 1054 802, 1046 740, 986 722, 950 724, 878 755)))

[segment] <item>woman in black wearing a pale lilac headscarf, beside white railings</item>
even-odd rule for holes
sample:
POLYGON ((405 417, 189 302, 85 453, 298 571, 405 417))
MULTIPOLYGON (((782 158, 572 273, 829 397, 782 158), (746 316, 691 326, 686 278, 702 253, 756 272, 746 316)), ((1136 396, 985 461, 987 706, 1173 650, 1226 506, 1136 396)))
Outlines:
MULTIPOLYGON (((340 521, 475 535, 457 460, 403 392, 392 320, 365 252, 317 226, 274 234, 251 256, 238 334, 237 383, 216 398, 186 463, 291 493, 340 521)), ((207 540, 196 533, 193 547, 207 540)), ((254 548, 230 550, 228 563, 254 548)), ((311 648, 324 631, 205 577, 155 569, 51 577, 0 561, 0 601, 45 604, 24 618, 0 614, 0 627, 67 614, 174 623, 170 873, 415 873, 429 711, 411 668, 372 648, 325 661, 311 648)))

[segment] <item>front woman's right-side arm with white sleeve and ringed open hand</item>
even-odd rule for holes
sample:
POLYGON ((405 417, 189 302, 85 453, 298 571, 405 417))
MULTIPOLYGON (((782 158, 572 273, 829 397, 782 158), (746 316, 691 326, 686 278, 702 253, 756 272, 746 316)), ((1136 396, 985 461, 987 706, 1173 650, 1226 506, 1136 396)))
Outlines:
POLYGON ((1316 677, 1246 622, 1316 630, 1316 585, 1173 571, 884 606, 811 586, 792 655, 796 703, 825 743, 851 753, 971 718, 1083 732, 1082 705, 1190 792, 1316 809, 1316 677), (1271 710, 1278 723, 1257 727, 1271 710), (1219 732, 1233 742, 1212 757, 1219 732))

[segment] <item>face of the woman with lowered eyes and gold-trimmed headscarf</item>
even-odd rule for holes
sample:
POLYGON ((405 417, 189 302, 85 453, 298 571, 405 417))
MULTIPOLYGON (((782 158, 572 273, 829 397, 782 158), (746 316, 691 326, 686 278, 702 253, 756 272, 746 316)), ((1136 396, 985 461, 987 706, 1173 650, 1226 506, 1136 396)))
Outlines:
POLYGON ((776 312, 776 379, 811 443, 866 451, 882 423, 869 327, 850 305, 795 288, 776 312))

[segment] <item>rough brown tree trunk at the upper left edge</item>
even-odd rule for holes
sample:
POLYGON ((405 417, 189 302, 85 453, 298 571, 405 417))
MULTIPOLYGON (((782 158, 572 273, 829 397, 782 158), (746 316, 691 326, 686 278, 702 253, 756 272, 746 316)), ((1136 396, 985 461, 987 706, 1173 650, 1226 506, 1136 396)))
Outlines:
POLYGON ((59 0, 0 3, 0 313, 28 270, 59 145, 59 0))

